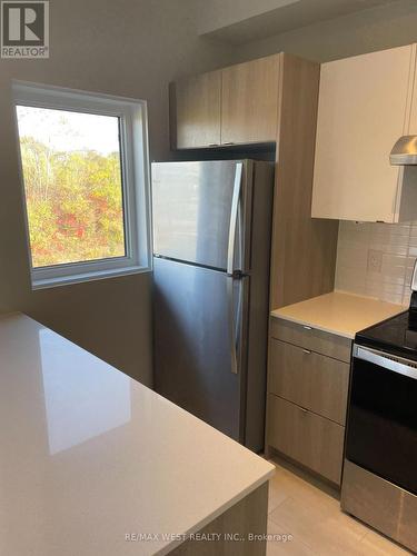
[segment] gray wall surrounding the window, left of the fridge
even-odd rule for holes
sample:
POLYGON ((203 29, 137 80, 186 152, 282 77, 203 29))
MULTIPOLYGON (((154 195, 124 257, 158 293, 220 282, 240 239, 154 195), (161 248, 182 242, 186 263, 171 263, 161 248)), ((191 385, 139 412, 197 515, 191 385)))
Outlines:
POLYGON ((51 58, 0 60, 0 312, 24 311, 148 385, 150 275, 31 291, 10 83, 146 99, 151 158, 163 158, 168 81, 229 61, 227 47, 198 39, 192 9, 192 0, 53 0, 51 58))

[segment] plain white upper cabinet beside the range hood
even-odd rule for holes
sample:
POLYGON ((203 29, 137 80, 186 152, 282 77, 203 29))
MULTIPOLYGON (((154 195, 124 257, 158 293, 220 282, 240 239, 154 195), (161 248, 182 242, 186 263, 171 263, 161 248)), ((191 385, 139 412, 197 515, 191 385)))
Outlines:
POLYGON ((413 60, 407 46, 321 66, 312 217, 398 219, 389 153, 408 127, 413 60))

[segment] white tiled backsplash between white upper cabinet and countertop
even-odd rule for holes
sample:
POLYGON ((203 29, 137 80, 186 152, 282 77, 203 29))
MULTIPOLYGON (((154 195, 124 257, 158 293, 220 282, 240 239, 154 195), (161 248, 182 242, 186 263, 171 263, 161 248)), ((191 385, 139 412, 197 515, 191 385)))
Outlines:
POLYGON ((408 305, 416 257, 417 221, 340 221, 335 288, 408 305))

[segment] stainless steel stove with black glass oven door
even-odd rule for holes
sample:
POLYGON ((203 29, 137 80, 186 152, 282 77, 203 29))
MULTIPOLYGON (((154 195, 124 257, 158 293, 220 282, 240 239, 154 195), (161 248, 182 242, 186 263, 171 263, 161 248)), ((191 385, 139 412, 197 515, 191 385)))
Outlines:
POLYGON ((341 507, 417 553, 417 270, 409 310, 356 335, 341 507))

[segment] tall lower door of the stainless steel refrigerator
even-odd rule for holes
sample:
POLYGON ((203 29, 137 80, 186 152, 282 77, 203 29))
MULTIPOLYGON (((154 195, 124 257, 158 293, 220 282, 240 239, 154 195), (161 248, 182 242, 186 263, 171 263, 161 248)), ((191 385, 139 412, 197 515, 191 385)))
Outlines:
POLYGON ((153 262, 156 390, 244 441, 249 278, 167 259, 153 262))

